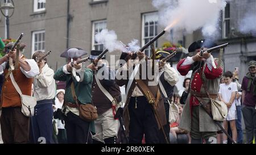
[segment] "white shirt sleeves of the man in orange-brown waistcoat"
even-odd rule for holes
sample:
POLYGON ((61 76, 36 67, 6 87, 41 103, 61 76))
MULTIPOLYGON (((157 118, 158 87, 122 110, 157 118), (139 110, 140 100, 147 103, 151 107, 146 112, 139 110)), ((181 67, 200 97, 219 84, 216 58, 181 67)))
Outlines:
MULTIPOLYGON (((23 55, 22 55, 23 56, 23 55)), ((22 57, 20 56, 20 57, 22 57)), ((20 67, 21 72, 27 77, 27 78, 32 78, 35 77, 36 75, 39 74, 39 68, 38 68, 38 64, 36 64, 34 59, 25 59, 24 61, 26 61, 28 63, 28 65, 30 65, 30 70, 27 72, 25 71, 22 67, 20 67)), ((6 68, 6 62, 3 62, 3 64, 0 65, 0 74, 3 74, 3 70, 5 70, 6 68)))

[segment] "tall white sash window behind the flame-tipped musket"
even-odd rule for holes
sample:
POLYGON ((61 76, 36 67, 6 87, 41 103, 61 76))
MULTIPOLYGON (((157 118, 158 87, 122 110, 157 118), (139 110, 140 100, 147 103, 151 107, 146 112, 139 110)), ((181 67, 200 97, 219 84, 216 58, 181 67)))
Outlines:
MULTIPOLYGON (((147 44, 154 36, 158 35, 158 14, 157 12, 142 15, 142 46, 147 44)), ((158 47, 158 41, 155 41, 158 47)), ((150 47, 144 50, 147 56, 151 55, 150 47)))

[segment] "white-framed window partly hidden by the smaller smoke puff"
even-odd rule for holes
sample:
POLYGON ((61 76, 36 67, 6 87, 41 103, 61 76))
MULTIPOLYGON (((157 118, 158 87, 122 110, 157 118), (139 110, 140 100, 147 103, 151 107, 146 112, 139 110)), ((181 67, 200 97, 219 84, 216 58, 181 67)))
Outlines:
POLYGON ((92 49, 94 50, 100 50, 103 51, 104 50, 104 45, 97 43, 97 41, 95 41, 94 36, 101 32, 101 30, 106 28, 106 20, 100 20, 100 21, 96 21, 93 22, 93 26, 92 26, 92 49))

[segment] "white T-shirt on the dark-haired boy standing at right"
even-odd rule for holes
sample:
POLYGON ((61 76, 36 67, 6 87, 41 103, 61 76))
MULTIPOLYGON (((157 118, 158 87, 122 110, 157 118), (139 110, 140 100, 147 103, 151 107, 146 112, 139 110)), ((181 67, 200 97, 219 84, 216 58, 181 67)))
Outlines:
MULTIPOLYGON (((220 90, 218 91, 218 94, 221 94, 222 99, 225 102, 229 102, 232 92, 237 91, 237 85, 234 82, 229 83, 229 85, 226 85, 225 83, 220 84, 220 90)), ((230 107, 230 110, 236 110, 236 104, 235 100, 232 103, 232 106, 230 107)))

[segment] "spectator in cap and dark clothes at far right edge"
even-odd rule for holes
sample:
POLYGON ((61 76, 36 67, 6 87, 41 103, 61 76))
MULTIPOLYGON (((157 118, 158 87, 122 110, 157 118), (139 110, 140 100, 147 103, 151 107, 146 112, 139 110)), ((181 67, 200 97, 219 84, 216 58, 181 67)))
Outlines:
POLYGON ((249 62, 249 73, 243 77, 242 81, 242 114, 245 121, 246 143, 253 143, 256 135, 256 61, 249 62), (254 85, 253 85, 254 84, 254 85))

